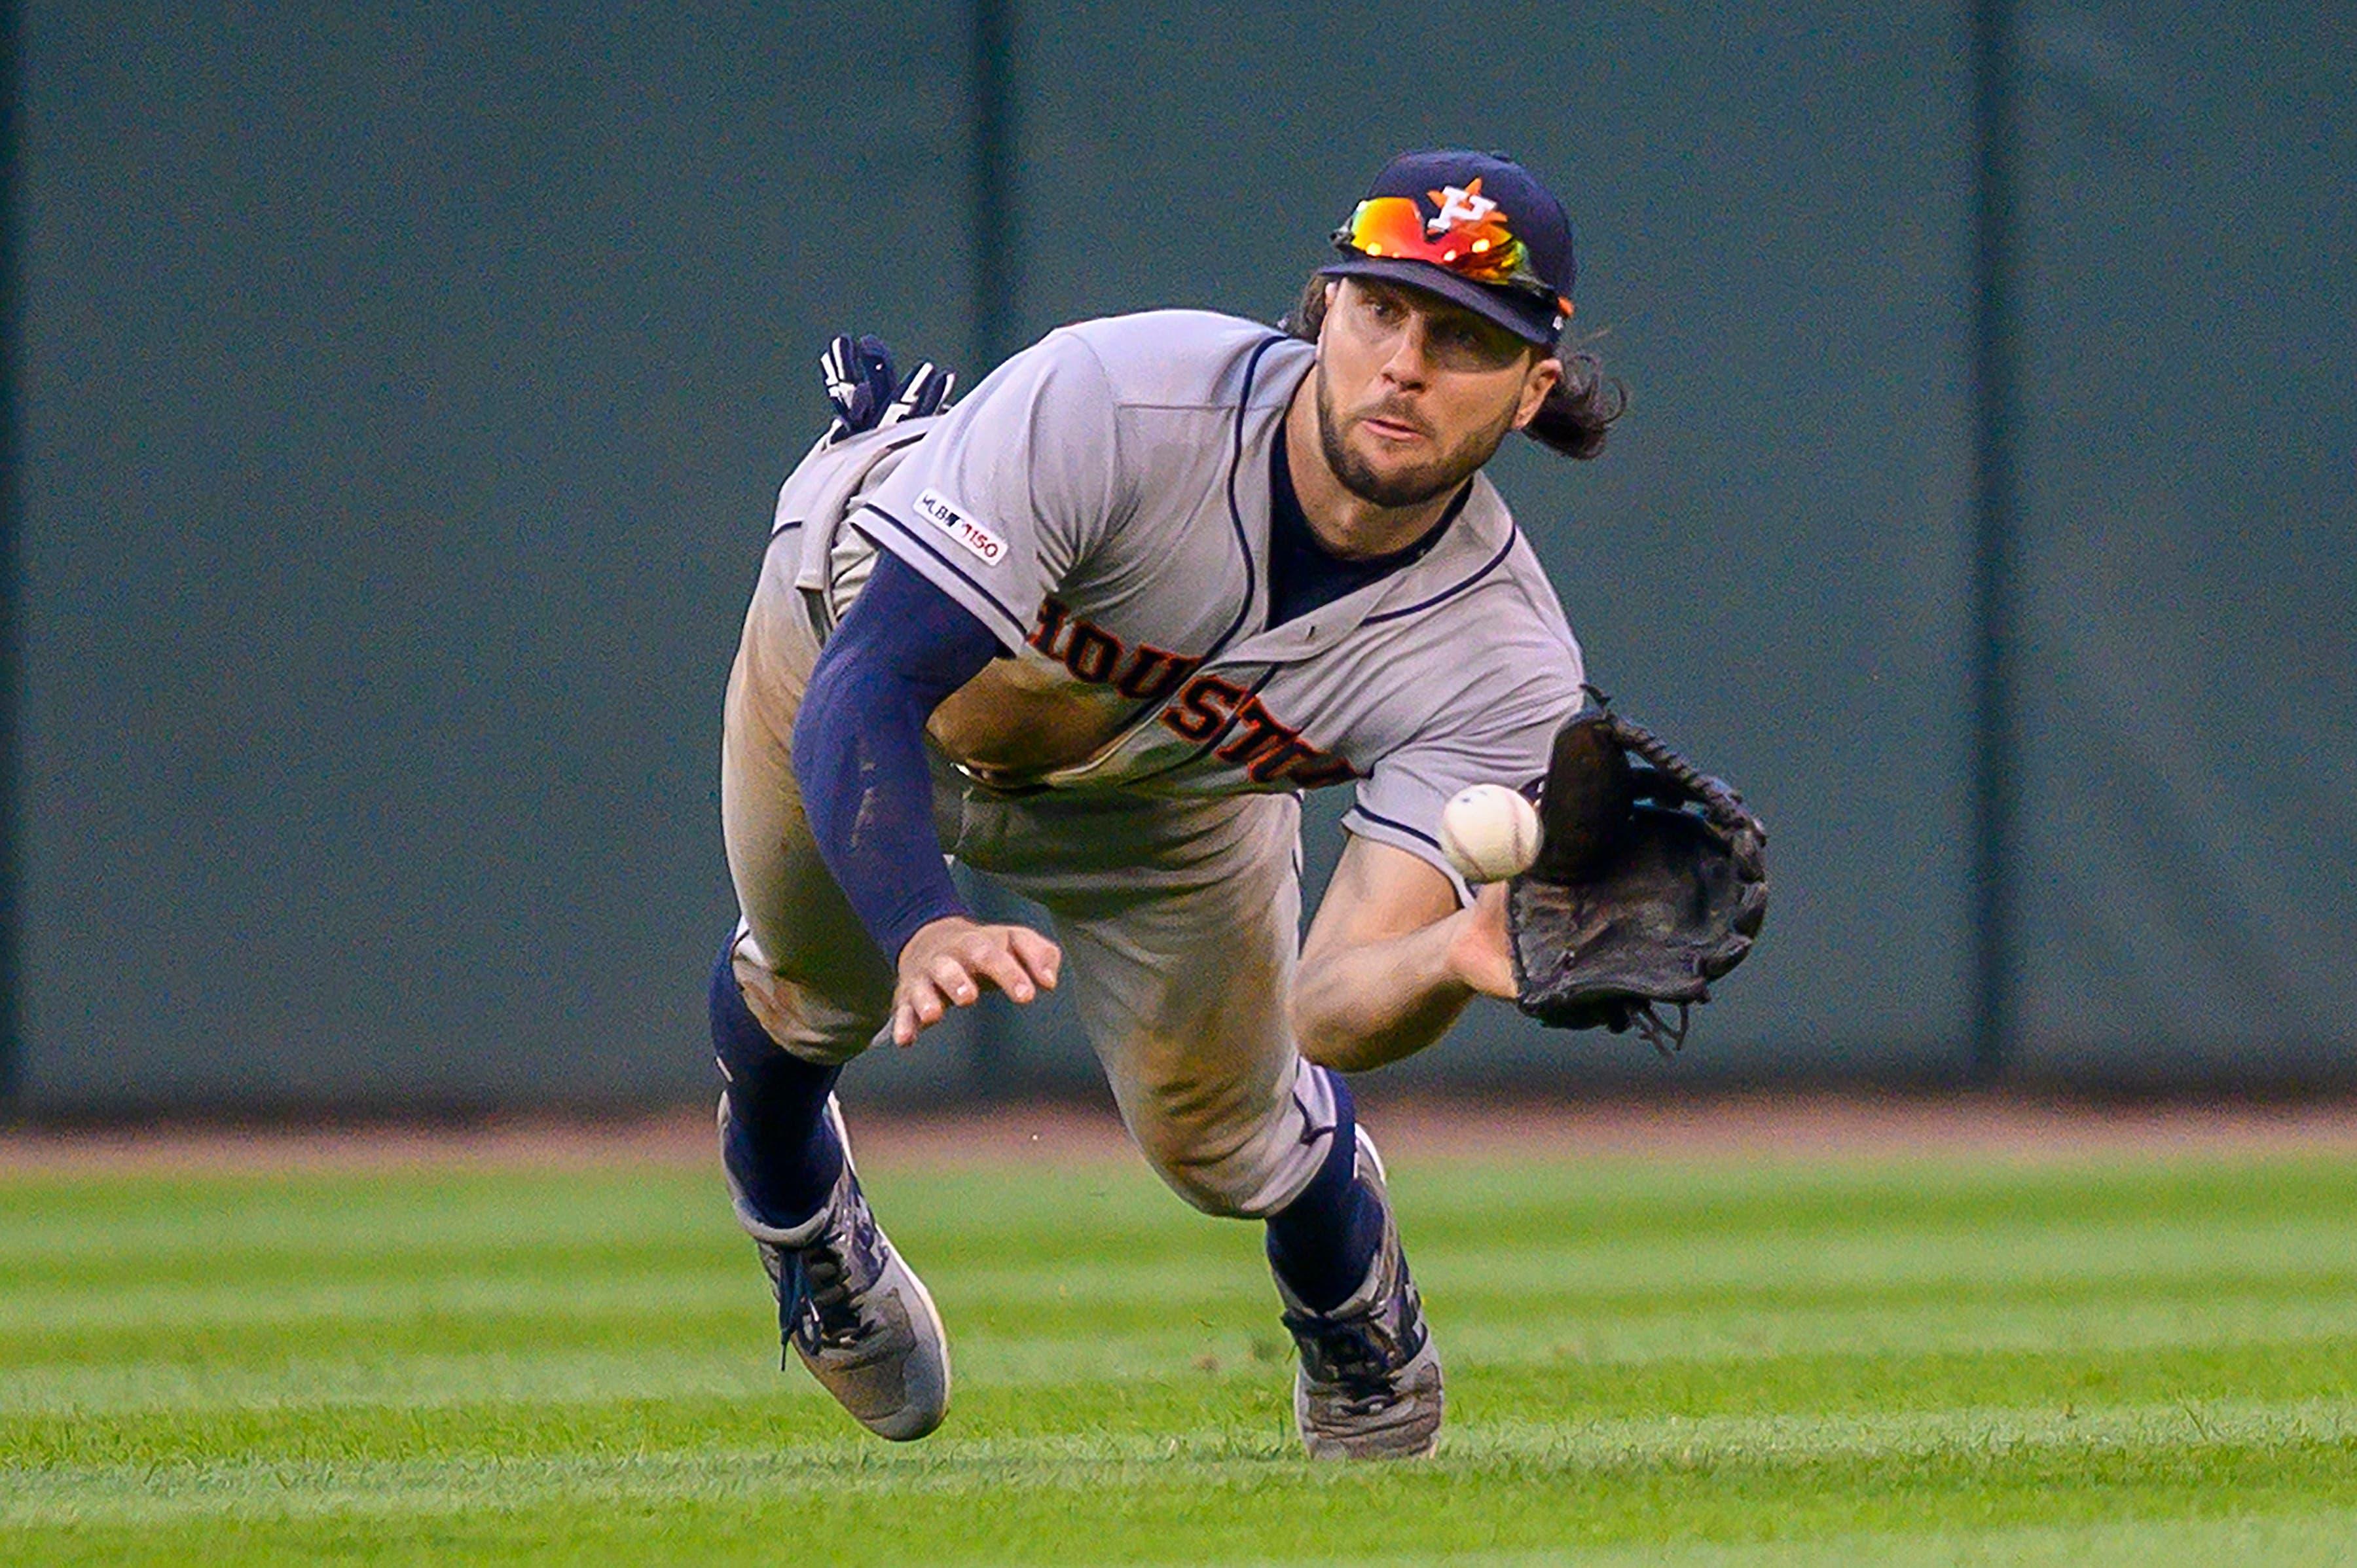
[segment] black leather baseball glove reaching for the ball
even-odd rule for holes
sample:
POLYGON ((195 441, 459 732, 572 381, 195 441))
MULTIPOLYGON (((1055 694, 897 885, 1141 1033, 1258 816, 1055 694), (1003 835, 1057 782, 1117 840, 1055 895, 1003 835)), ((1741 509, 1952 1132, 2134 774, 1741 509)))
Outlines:
POLYGON ((1666 1056, 1688 1009, 1751 953, 1768 830, 1600 700, 1556 731, 1539 830, 1537 863, 1506 887, 1516 1004, 1551 1028, 1633 1026, 1666 1056))

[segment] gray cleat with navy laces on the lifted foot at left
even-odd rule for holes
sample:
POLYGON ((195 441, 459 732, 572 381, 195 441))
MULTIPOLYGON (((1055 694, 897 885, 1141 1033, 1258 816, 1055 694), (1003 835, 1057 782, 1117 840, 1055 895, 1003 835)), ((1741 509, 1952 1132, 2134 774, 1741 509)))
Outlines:
MULTIPOLYGON (((924 1280, 900 1261, 867 1210, 834 1099, 827 1099, 827 1118, 844 1141, 844 1174, 827 1207, 778 1228, 752 1214, 733 1174, 728 1195, 778 1297, 783 1346, 801 1356, 811 1377, 860 1427, 905 1443, 940 1427, 950 1410, 950 1339, 924 1280)), ((724 1139, 726 1127, 728 1096, 721 1096, 724 1139)))

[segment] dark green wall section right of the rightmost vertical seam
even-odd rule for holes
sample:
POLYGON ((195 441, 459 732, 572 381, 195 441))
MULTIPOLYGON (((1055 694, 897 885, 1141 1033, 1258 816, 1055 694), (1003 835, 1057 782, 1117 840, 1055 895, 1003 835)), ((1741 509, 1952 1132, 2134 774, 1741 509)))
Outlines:
POLYGON ((2022 1063, 2357 1075, 2357 12, 2029 26, 2022 1063))

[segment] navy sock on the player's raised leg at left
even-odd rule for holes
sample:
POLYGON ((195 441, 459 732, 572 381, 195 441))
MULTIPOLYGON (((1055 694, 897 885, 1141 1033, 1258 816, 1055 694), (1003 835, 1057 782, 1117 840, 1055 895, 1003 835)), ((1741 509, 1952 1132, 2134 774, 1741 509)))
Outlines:
POLYGON ((778 1047, 735 983, 731 950, 712 967, 712 1054, 728 1080, 728 1139, 721 1160, 754 1212, 792 1228, 816 1214, 844 1172, 844 1146, 827 1122, 827 1094, 844 1068, 813 1066, 778 1047))

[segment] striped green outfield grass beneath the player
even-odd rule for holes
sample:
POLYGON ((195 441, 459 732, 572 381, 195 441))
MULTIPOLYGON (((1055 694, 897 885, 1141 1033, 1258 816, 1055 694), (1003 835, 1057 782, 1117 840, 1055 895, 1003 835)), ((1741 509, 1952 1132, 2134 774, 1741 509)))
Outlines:
POLYGON ((950 1424, 717 1177, 0 1174, 0 1563, 2357 1563, 2357 1158, 1393 1158, 1440 1457, 1296 1457, 1252 1226, 870 1160, 950 1424))

